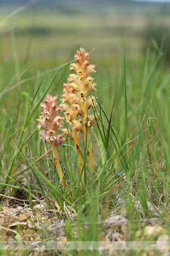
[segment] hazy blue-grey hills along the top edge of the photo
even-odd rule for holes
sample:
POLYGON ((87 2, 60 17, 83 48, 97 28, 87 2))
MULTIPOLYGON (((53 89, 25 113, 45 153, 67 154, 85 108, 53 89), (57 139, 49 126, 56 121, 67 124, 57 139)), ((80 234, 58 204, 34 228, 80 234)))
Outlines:
POLYGON ((0 0, 0 7, 14 8, 21 5, 32 5, 42 9, 57 9, 65 13, 75 13, 76 11, 90 11, 95 13, 97 11, 130 11, 131 9, 138 9, 139 12, 148 11, 154 7, 157 9, 170 9, 170 3, 160 2, 136 2, 133 0, 0 0))

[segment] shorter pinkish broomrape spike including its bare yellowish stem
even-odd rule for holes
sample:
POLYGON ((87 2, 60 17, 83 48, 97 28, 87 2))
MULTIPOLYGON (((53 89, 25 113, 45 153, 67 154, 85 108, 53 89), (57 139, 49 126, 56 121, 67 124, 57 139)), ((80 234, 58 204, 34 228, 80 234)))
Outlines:
POLYGON ((56 135, 56 131, 63 128, 63 117, 58 115, 58 113, 61 112, 62 107, 56 106, 57 100, 58 96, 52 97, 51 94, 47 94, 46 98, 44 98, 44 103, 40 104, 41 109, 44 111, 41 112, 42 115, 40 116, 40 119, 36 120, 39 121, 39 125, 37 127, 39 129, 41 129, 41 127, 43 128, 39 131, 41 135, 40 139, 44 139, 45 142, 48 142, 52 147, 54 156, 53 161, 56 164, 59 179, 64 187, 62 180, 63 173, 58 160, 57 148, 62 141, 65 141, 65 138, 63 138, 63 135, 65 134, 56 135))

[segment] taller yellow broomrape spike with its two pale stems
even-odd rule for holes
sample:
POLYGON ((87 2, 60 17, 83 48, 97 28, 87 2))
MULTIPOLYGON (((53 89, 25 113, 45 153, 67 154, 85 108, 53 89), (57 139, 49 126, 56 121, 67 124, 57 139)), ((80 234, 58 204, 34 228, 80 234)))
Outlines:
MULTIPOLYGON (((96 84, 93 82, 94 79, 90 76, 90 73, 96 71, 94 70, 95 65, 89 65, 88 56, 89 53, 86 53, 83 48, 80 48, 74 56, 76 63, 71 63, 70 70, 74 70, 75 73, 71 73, 67 79, 67 84, 63 84, 61 106, 65 112, 66 121, 71 126, 69 133, 78 154, 80 170, 82 171, 83 159, 80 154, 78 133, 82 133, 84 142, 87 142, 88 166, 93 172, 95 171, 95 164, 90 144, 90 128, 95 122, 95 116, 94 114, 88 115, 88 110, 96 105, 95 97, 90 96, 91 90, 96 90, 96 84)), ((68 135, 67 129, 62 129, 62 131, 68 135)))

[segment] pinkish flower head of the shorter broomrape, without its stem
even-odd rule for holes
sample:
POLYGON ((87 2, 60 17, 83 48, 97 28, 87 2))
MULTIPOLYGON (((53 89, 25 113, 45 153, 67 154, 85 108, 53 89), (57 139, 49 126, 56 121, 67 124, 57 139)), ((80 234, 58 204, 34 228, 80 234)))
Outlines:
POLYGON ((64 134, 58 134, 56 136, 56 131, 63 127, 63 117, 57 115, 62 110, 62 106, 56 106, 56 102, 58 100, 58 96, 52 97, 52 95, 47 94, 46 98, 44 98, 44 103, 41 103, 41 109, 44 111, 41 113, 40 119, 36 119, 39 121, 39 125, 37 126, 39 129, 41 127, 42 130, 39 131, 41 138, 43 138, 46 142, 50 143, 54 141, 56 146, 59 145, 59 142, 65 140, 61 138, 64 134))

